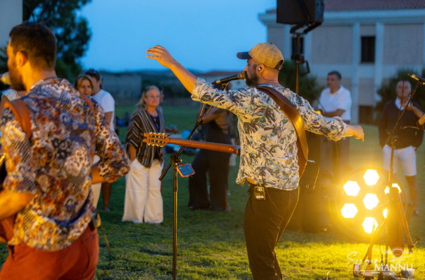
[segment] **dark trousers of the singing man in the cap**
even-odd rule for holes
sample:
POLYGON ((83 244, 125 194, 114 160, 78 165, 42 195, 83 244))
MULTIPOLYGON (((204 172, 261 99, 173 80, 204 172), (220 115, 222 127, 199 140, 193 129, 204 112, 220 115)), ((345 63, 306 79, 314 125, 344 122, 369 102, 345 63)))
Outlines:
POLYGON ((281 279, 274 247, 286 228, 298 201, 298 188, 267 187, 265 200, 256 200, 253 186, 245 208, 243 229, 249 267, 254 280, 281 279))

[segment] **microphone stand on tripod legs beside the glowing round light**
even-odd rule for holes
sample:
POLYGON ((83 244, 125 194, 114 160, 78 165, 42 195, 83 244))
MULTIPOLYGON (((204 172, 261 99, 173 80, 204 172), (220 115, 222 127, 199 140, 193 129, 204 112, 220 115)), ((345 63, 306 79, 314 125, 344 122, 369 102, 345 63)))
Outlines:
MULTIPOLYGON (((373 247, 373 243, 376 241, 380 230, 385 226, 386 232, 386 242, 385 242, 385 259, 384 259, 384 264, 381 265, 381 267, 388 267, 388 247, 389 247, 389 234, 388 234, 388 223, 391 222, 392 224, 395 222, 394 220, 390 220, 390 219, 394 219, 396 216, 398 216, 398 218, 400 219, 400 223, 402 226, 402 231, 404 232, 404 235, 406 236, 406 241, 407 241, 407 247, 409 249, 409 253, 412 253, 412 248, 414 248, 414 244, 413 241, 411 239, 411 235, 410 235, 410 231, 409 231, 409 227, 408 227, 408 223, 407 223, 407 219, 406 216, 404 214, 404 208, 403 205, 400 201, 400 195, 398 194, 398 190, 394 190, 392 188, 392 181, 393 181, 393 163, 394 163, 394 149, 395 149, 395 142, 397 140, 397 135, 395 134, 395 132, 398 129, 399 126, 399 122, 402 118, 402 116, 404 115, 405 111, 407 110, 407 106, 411 103, 411 100, 413 99, 414 94, 416 93, 417 89, 419 88, 420 84, 424 84, 421 81, 418 81, 416 83, 415 88, 413 89, 413 91, 410 93, 409 98, 404 106, 404 109, 401 111, 401 113, 398 115, 397 121, 395 122, 394 127, 392 128, 392 131, 388 133, 388 138, 385 142, 385 144, 387 144, 388 142, 391 143, 391 156, 390 156, 390 162, 389 162, 389 172, 388 172, 388 187, 389 187, 389 193, 387 194, 388 197, 386 198, 385 203, 387 205, 389 205, 390 203, 394 203, 396 204, 394 208, 395 212, 391 212, 387 207, 388 211, 387 211, 387 217, 385 218, 385 220, 376 228, 375 233, 373 234, 373 236, 370 239, 370 243, 369 243, 369 247, 367 249, 367 252, 363 258, 363 261, 367 258, 368 263, 366 265, 366 269, 365 269, 365 273, 364 273, 364 279, 372 279, 373 275, 370 271, 370 265, 371 265, 371 254, 372 254, 372 247, 373 247)), ((401 235, 401 241, 403 242, 403 247, 404 247, 404 240, 402 238, 401 235)), ((395 249, 393 249, 395 250, 395 249)), ((402 251, 401 251, 402 253, 402 251)), ((400 254, 401 255, 401 254, 400 254)), ((382 262, 382 260, 381 260, 382 262)), ((389 271, 379 271, 378 274, 378 280, 382 280, 382 279, 397 279, 394 278, 395 276, 392 275, 392 273, 389 274, 384 274, 384 272, 388 273, 389 271)))

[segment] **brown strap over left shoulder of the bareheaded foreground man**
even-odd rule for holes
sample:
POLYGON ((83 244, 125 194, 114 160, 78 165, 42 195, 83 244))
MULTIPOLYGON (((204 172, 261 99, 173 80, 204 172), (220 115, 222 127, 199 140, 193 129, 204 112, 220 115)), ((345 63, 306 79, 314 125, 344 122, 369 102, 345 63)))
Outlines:
POLYGON ((10 108, 19 122, 22 131, 25 132, 28 139, 30 139, 32 135, 31 122, 29 121, 29 111, 25 102, 20 98, 9 101, 9 98, 3 95, 1 96, 0 114, 3 113, 5 108, 10 108))

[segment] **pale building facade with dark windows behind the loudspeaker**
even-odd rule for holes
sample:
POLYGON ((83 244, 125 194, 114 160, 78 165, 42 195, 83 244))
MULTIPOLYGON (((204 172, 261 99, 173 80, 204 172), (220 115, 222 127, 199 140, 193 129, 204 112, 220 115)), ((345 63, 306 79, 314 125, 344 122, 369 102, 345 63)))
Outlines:
MULTIPOLYGON (((327 72, 342 74, 352 95, 353 122, 370 119, 384 79, 400 68, 420 74, 425 65, 423 0, 325 0, 323 17, 320 26, 302 36, 301 52, 323 85, 327 72)), ((290 58, 292 26, 276 23, 275 9, 259 19, 267 26, 267 41, 290 58)))

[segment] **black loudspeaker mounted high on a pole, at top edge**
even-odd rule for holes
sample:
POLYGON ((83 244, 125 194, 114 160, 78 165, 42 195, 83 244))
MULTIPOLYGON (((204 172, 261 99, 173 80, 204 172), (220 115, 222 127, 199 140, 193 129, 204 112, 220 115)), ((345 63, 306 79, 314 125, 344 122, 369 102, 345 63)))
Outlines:
POLYGON ((276 21, 311 25, 323 22, 324 0, 277 0, 276 21))

